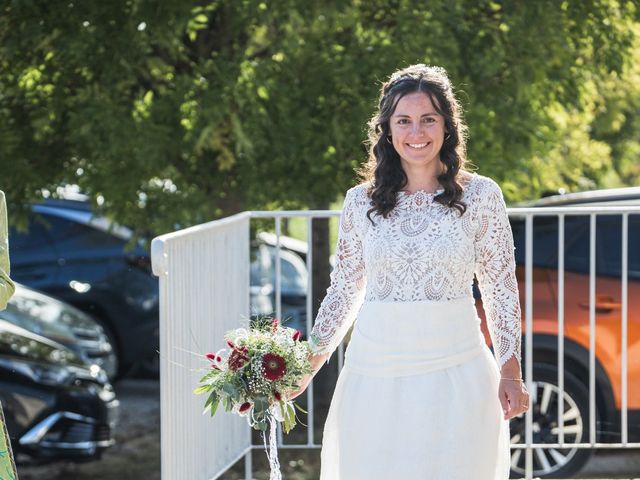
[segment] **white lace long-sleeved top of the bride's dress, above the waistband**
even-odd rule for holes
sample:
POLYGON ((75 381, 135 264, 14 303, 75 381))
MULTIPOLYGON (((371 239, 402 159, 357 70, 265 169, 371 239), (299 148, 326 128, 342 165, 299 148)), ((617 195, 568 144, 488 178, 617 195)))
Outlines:
POLYGON ((520 361, 520 303, 513 236, 500 187, 473 174, 467 211, 434 201, 440 193, 399 192, 388 218, 371 214, 368 184, 347 191, 327 294, 309 335, 314 353, 333 352, 364 300, 453 300, 472 295, 474 273, 500 367, 520 361))

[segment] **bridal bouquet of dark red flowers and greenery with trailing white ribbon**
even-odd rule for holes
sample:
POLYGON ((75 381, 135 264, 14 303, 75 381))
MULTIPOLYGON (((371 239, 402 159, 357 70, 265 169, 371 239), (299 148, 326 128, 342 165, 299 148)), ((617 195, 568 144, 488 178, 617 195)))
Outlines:
POLYGON ((204 356, 210 362, 209 371, 194 393, 207 395, 204 408, 211 416, 222 403, 225 411, 246 417, 252 428, 262 431, 265 450, 269 422, 270 478, 280 479, 276 423, 282 422, 284 432, 289 433, 296 425, 295 408, 307 413, 286 396, 298 389, 304 375, 313 372, 308 343, 300 340, 298 330, 269 317, 258 318, 250 328, 227 332, 225 340, 228 349, 204 356))

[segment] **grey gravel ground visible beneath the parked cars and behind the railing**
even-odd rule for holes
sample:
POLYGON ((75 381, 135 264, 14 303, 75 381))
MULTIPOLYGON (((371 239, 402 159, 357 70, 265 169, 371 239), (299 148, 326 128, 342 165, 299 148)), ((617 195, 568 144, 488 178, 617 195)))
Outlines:
MULTIPOLYGON (((157 381, 126 379, 116 384, 121 402, 117 443, 99 461, 56 462, 34 465, 19 458, 21 480, 159 480, 160 388, 157 381)), ((317 428, 317 427, 316 427, 317 428)), ((286 480, 317 480, 320 451, 279 450, 286 480)), ((268 466, 262 450, 253 453, 255 480, 267 480, 268 466)), ((580 473, 585 479, 640 478, 640 451, 600 451, 580 473)), ((244 480, 240 461, 221 480, 244 480)))

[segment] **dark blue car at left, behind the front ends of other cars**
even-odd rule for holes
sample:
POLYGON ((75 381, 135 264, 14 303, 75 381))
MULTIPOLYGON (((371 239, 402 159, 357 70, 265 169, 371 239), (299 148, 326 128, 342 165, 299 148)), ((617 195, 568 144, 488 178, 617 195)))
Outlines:
POLYGON ((104 329, 122 376, 158 372, 158 280, 132 232, 95 215, 86 197, 31 207, 28 232, 9 231, 11 276, 91 315, 104 329))

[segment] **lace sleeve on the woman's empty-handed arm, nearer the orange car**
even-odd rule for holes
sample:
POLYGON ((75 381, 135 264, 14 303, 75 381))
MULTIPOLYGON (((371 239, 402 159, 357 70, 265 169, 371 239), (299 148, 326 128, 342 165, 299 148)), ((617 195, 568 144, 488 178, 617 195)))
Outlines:
POLYGON ((520 362, 521 314, 513 235, 498 184, 487 179, 479 202, 475 273, 494 356, 502 368, 512 357, 520 362))

